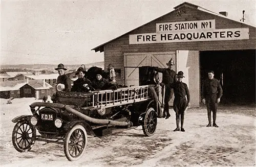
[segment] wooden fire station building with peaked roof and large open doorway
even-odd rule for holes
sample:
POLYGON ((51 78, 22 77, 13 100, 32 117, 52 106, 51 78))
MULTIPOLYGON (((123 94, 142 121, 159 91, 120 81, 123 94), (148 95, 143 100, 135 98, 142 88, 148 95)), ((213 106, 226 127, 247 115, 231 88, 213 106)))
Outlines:
MULTIPOLYGON (((172 12, 95 47, 104 52, 104 67, 113 64, 119 84, 139 85, 140 67, 166 68, 174 58, 176 73, 190 91, 190 103, 200 105, 201 85, 214 70, 223 88, 221 103, 255 104, 255 27, 182 3, 172 12)), ((160 76, 161 81, 161 76, 160 76)))

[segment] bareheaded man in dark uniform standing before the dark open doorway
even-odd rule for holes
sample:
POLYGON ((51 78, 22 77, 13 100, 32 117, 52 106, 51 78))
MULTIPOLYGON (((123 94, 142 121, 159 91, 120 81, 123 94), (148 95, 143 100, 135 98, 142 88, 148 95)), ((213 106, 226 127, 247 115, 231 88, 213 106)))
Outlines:
POLYGON ((213 127, 218 128, 216 124, 217 106, 221 101, 222 88, 219 80, 214 78, 214 71, 208 71, 208 79, 206 79, 202 86, 201 97, 203 104, 206 104, 207 115, 209 124, 206 127, 211 126, 211 111, 213 119, 213 127))

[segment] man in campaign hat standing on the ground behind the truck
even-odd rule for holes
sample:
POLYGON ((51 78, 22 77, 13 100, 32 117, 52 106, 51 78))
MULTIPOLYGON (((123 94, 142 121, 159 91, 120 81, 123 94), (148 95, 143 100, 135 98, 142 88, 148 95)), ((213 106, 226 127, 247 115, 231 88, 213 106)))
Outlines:
POLYGON ((176 129, 174 131, 185 132, 183 128, 184 123, 184 112, 186 107, 190 106, 190 94, 187 84, 182 82, 184 78, 183 72, 179 71, 177 74, 178 81, 171 85, 174 88, 174 111, 176 113, 176 129), (186 100, 187 97, 187 100, 186 100), (181 129, 180 129, 181 128, 181 129))

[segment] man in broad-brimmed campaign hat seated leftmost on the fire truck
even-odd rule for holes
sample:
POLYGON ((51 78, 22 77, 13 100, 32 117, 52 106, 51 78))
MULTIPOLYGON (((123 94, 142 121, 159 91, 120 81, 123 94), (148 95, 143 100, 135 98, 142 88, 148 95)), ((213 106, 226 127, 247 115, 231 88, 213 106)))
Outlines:
POLYGON ((63 84, 65 85, 65 89, 63 91, 70 91, 71 90, 71 81, 70 78, 65 74, 67 68, 63 64, 58 64, 57 68, 54 68, 58 71, 58 78, 57 78, 57 85, 63 84))

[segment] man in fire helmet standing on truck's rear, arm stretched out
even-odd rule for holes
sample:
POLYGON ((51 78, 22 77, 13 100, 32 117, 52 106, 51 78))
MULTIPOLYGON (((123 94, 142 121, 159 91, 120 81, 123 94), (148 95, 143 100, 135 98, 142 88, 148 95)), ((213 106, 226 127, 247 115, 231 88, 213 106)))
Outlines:
POLYGON ((170 117, 169 113, 169 101, 172 99, 174 91, 173 88, 170 87, 171 84, 177 81, 177 76, 176 72, 172 69, 174 64, 174 59, 171 58, 168 63, 168 68, 158 68, 156 67, 155 70, 158 71, 159 73, 163 74, 163 79, 162 83, 160 85, 162 86, 162 90, 165 86, 165 95, 164 95, 164 111, 163 111, 163 116, 165 119, 168 119, 170 117))

